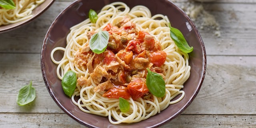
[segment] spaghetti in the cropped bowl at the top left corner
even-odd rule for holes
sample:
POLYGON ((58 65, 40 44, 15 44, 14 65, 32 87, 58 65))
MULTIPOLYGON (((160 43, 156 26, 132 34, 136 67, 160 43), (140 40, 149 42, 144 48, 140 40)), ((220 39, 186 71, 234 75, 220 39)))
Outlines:
POLYGON ((45 0, 14 0, 15 9, 0 7, 0 26, 13 24, 32 17, 32 10, 45 0))

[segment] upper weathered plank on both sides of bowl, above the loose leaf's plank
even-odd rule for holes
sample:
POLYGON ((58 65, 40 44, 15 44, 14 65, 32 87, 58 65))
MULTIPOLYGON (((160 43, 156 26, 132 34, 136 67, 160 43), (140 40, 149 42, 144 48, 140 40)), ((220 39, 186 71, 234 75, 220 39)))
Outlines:
MULTIPOLYGON (((0 52, 40 53, 45 33, 51 22, 70 3, 71 1, 56 1, 34 22, 17 30, 0 34, 0 52)), ((214 36, 215 29, 210 27, 200 29, 200 24, 197 24, 208 55, 256 55, 254 52, 256 49, 254 43, 256 40, 255 4, 203 5, 205 10, 216 18, 221 34, 220 37, 214 36)))

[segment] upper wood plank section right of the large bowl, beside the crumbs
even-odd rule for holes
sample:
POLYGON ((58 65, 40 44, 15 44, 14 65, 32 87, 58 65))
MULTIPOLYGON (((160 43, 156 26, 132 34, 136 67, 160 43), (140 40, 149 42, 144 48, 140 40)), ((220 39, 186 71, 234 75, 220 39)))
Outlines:
POLYGON ((221 34, 218 38, 215 30, 198 27, 208 55, 256 55, 255 4, 242 8, 241 4, 204 4, 204 8, 216 18, 221 34))

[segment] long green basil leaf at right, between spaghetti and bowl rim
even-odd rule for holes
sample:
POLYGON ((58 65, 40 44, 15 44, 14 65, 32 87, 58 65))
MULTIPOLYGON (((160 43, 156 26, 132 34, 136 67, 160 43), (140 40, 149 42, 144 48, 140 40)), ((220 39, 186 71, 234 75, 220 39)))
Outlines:
POLYGON ((169 23, 170 28, 170 36, 175 44, 180 48, 180 50, 184 53, 190 53, 193 51, 193 47, 188 45, 188 42, 184 38, 183 34, 177 28, 173 28, 169 23))

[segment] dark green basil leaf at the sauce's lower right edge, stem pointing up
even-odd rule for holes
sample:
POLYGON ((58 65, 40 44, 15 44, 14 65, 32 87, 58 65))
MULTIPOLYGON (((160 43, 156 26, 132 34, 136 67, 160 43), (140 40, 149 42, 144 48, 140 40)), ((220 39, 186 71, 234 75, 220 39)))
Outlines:
POLYGON ((150 71, 148 68, 148 74, 146 77, 146 85, 149 92, 156 97, 164 97, 165 95, 165 82, 164 78, 158 73, 150 71))

